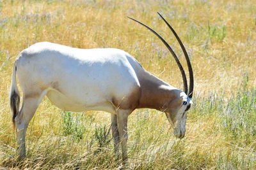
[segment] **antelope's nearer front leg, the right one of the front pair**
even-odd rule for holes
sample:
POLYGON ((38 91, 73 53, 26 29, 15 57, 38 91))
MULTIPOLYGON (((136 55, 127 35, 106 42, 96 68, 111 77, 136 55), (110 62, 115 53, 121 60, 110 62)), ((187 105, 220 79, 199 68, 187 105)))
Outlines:
POLYGON ((117 125, 120 143, 122 145, 122 158, 123 162, 127 161, 127 120, 128 115, 131 113, 130 110, 118 110, 117 111, 117 125))

